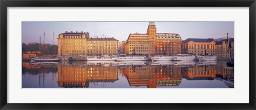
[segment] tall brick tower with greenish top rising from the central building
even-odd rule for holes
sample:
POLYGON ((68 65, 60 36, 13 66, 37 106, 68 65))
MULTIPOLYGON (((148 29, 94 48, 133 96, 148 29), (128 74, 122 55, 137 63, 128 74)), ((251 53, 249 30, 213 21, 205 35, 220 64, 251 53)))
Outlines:
POLYGON ((155 22, 149 22, 148 24, 148 54, 149 56, 152 54, 156 54, 156 24, 155 22))

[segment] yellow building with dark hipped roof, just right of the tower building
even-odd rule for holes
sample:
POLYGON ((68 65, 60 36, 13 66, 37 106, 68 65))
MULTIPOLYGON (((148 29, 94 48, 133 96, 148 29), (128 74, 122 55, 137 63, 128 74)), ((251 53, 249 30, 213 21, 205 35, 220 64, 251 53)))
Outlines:
POLYGON ((209 39, 188 38, 182 41, 182 54, 215 55, 215 41, 209 39))

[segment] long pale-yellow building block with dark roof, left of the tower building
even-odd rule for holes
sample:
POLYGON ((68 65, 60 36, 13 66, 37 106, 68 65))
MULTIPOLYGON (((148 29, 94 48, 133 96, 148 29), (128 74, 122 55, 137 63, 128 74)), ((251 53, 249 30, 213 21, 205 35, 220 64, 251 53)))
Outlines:
POLYGON ((65 32, 58 37, 58 55, 72 58, 118 54, 118 40, 113 37, 90 37, 89 32, 65 32))

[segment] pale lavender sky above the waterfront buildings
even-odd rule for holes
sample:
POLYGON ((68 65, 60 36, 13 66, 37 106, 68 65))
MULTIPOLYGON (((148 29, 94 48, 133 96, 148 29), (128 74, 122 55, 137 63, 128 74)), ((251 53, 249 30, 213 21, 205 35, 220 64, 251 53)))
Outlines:
MULTIPOLYGON (((149 22, 49 22, 49 21, 23 21, 22 43, 39 43, 45 32, 45 43, 52 44, 54 31, 54 44, 58 43, 58 35, 66 31, 89 32, 90 37, 106 35, 119 41, 127 40, 130 33, 147 33, 149 22)), ((213 22, 155 22, 157 33, 179 33, 182 40, 187 38, 234 38, 233 21, 213 22)))

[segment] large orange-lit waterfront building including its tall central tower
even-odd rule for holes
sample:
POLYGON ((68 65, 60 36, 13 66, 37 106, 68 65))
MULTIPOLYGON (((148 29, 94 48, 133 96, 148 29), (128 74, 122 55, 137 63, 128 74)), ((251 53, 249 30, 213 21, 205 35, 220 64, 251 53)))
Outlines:
POLYGON ((131 33, 123 46, 125 54, 179 54, 181 37, 178 33, 157 33, 155 22, 149 22, 147 33, 131 33))

